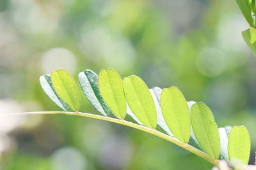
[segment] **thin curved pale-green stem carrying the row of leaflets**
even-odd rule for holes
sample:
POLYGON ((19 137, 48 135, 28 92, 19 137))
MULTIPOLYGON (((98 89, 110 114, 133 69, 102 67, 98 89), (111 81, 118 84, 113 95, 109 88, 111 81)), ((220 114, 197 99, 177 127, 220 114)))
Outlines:
POLYGON ((126 126, 129 126, 129 127, 133 127, 134 129, 139 129, 141 131, 153 134, 154 136, 165 139, 166 141, 170 141, 171 143, 174 143, 175 145, 178 145, 181 148, 184 148, 184 149, 188 150, 189 152, 195 153, 195 155, 198 155, 199 157, 202 157, 203 159, 207 160, 208 162, 211 162, 215 166, 218 166, 218 160, 212 159, 211 157, 209 157, 209 155, 202 152, 201 150, 198 150, 197 148, 194 148, 191 145, 188 145, 188 143, 182 143, 178 139, 173 138, 172 136, 168 136, 168 135, 166 135, 162 132, 156 131, 155 129, 150 129, 150 128, 145 127, 143 125, 134 124, 132 122, 128 122, 126 120, 121 120, 121 119, 118 119, 118 118, 111 118, 111 117, 105 117, 105 116, 100 116, 100 115, 93 115, 91 113, 70 112, 70 111, 36 111, 36 112, 23 112, 23 113, 8 114, 8 116, 11 116, 11 115, 73 115, 73 116, 96 118, 96 119, 99 119, 99 120, 106 120, 108 122, 114 122, 116 124, 126 125, 126 126))

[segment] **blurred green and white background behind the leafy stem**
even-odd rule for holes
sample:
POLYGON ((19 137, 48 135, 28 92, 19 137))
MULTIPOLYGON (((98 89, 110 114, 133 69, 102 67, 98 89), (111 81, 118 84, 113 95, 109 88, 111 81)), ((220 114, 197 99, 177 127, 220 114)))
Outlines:
MULTIPOLYGON (((0 0, 0 113, 60 111, 39 76, 58 68, 137 74, 204 101, 219 127, 246 125, 256 150, 256 57, 228 0, 0 0)), ((81 111, 96 113, 83 95, 81 111)), ((0 169, 211 169, 129 127, 83 117, 0 119, 0 169)))

